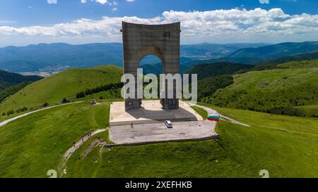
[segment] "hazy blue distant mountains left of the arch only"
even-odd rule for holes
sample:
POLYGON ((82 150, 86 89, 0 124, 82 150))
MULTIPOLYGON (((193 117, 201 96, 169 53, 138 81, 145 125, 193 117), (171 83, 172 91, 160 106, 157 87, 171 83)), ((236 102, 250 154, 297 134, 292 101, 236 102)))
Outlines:
POLYGON ((56 71, 122 63, 122 44, 37 44, 0 49, 0 69, 12 72, 56 71))

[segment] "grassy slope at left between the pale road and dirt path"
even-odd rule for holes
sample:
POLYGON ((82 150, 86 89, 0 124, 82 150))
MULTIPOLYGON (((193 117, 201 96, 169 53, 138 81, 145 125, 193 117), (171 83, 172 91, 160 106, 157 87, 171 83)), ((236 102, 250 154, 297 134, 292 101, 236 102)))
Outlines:
POLYGON ((0 177, 47 177, 88 131, 108 126, 109 102, 77 103, 22 117, 0 127, 0 177))

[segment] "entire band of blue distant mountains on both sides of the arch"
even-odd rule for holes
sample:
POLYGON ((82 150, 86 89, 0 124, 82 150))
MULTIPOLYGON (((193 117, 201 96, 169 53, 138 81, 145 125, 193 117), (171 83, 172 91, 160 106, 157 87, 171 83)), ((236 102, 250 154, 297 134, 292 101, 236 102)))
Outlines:
MULTIPOLYGON (((243 64, 271 63, 278 58, 318 51, 318 41, 281 44, 190 44, 180 46, 180 71, 194 65, 230 62, 243 64)), ((305 56, 307 57, 307 56, 305 56)), ((308 59, 308 58, 307 58, 308 59)), ((315 56, 313 56, 313 59, 315 56)), ((279 59, 278 59, 279 60, 279 59)), ((11 72, 56 72, 67 68, 90 68, 95 65, 122 66, 122 44, 37 44, 0 48, 0 70, 11 72)), ((146 57, 140 65, 145 71, 159 72, 158 58, 146 57), (145 66, 144 66, 145 65, 145 66)))

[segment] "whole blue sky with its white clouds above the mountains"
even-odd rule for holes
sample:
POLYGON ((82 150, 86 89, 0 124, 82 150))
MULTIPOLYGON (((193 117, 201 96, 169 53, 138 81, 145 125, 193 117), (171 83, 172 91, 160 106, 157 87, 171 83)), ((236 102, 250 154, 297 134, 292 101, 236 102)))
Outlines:
POLYGON ((121 42, 122 20, 181 22, 182 44, 318 41, 317 0, 0 0, 0 47, 121 42))

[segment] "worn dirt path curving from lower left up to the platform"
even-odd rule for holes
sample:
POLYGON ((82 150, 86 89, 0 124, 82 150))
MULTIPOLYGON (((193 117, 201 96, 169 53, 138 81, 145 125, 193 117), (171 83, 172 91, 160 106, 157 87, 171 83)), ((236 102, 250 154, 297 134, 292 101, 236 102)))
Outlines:
POLYGON ((62 170, 64 169, 67 160, 69 160, 69 158, 71 157, 71 155, 80 147, 83 145, 83 143, 85 143, 86 141, 88 141, 88 139, 90 139, 90 137, 94 136, 95 134, 99 134, 101 132, 105 132, 108 128, 105 129, 97 129, 93 132, 90 133, 90 136, 88 136, 87 134, 85 136, 83 136, 80 140, 78 140, 75 145, 73 145, 71 148, 69 148, 63 155, 63 160, 61 162, 61 165, 59 165, 58 169, 59 171, 62 171, 61 176, 63 176, 64 172, 66 170, 62 170))

